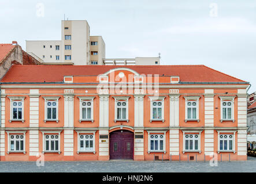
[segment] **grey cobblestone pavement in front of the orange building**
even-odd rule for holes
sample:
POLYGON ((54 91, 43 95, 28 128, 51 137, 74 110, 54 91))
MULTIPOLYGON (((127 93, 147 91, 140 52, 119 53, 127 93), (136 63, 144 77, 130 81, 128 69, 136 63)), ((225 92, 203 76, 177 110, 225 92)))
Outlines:
POLYGON ((155 172, 256 172, 256 158, 248 157, 247 161, 218 162, 212 167, 209 162, 136 162, 136 161, 96 161, 96 162, 44 162, 44 166, 36 166, 36 162, 0 162, 0 172, 10 173, 44 173, 44 172, 107 172, 107 173, 155 173, 155 172))

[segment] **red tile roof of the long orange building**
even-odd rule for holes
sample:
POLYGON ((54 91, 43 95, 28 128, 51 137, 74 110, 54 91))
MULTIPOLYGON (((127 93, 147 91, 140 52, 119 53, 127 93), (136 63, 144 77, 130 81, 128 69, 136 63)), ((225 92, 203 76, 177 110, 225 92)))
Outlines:
POLYGON ((180 76, 181 82, 245 82, 204 65, 191 66, 50 66, 13 65, 1 82, 62 82, 64 76, 99 75, 113 68, 131 68, 139 74, 180 76))

